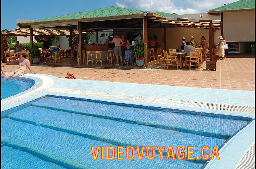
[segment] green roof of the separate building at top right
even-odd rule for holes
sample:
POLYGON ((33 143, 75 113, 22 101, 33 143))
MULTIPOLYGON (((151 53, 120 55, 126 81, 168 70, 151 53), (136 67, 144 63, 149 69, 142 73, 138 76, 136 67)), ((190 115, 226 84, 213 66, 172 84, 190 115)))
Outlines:
POLYGON ((255 9, 255 0, 239 0, 224 6, 209 10, 220 11, 220 10, 241 10, 241 9, 255 9))

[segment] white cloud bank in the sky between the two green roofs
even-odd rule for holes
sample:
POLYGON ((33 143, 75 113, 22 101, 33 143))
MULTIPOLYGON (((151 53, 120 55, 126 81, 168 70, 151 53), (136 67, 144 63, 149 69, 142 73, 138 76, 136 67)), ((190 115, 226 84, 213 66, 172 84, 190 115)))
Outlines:
POLYGON ((122 8, 160 11, 176 14, 205 13, 208 10, 223 6, 224 3, 236 0, 117 0, 116 5, 122 8))

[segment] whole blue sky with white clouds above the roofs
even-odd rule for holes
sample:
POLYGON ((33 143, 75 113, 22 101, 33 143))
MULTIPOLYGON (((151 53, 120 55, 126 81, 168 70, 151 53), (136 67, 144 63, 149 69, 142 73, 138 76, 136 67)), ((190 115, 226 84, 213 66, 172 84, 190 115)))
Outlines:
POLYGON ((206 13, 237 0, 1 0, 1 30, 16 29, 16 20, 38 20, 87 10, 119 6, 176 14, 206 13))

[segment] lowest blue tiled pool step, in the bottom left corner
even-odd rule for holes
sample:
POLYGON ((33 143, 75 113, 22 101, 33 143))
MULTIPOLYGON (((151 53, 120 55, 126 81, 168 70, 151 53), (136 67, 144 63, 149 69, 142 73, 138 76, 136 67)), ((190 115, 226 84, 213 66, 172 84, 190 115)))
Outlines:
POLYGON ((55 163, 44 161, 31 153, 8 146, 1 146, 2 169, 66 169, 55 163), (23 158, 26 157, 26 158, 23 158))

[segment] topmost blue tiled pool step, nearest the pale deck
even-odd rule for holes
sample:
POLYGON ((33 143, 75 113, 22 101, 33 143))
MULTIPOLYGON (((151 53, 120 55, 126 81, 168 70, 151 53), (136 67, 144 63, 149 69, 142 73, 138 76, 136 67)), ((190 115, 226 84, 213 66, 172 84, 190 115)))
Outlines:
POLYGON ((45 97, 32 106, 84 114, 99 118, 152 126, 182 132, 205 133, 216 138, 230 137, 249 120, 222 118, 215 115, 187 114, 182 110, 153 110, 130 106, 118 106, 66 98, 45 97), (230 127, 232 126, 232 127, 230 127))

